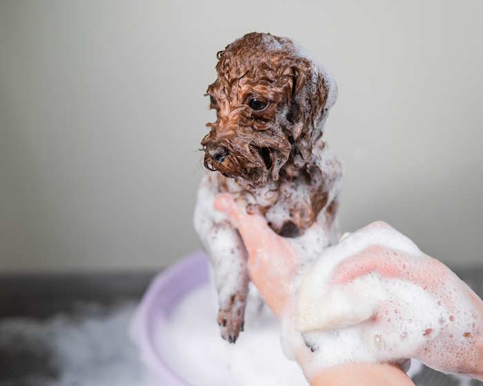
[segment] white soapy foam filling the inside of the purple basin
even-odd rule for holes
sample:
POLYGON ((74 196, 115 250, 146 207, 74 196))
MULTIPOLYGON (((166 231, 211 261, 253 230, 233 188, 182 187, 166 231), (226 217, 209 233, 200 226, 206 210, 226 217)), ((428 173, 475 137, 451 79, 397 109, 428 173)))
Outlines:
POLYGON ((213 285, 204 285, 186 295, 159 332, 161 355, 190 385, 306 385, 302 370, 282 354, 279 325, 265 306, 248 301, 236 345, 219 338, 216 314, 213 285))

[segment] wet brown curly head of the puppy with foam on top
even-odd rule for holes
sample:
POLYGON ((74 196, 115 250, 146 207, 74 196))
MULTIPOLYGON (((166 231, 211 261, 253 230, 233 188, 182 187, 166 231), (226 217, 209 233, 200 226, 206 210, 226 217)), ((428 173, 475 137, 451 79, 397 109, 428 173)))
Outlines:
POLYGON ((204 165, 263 185, 290 158, 308 161, 335 102, 333 79, 290 39, 270 34, 246 34, 217 58, 206 92, 217 120, 201 141, 204 165))

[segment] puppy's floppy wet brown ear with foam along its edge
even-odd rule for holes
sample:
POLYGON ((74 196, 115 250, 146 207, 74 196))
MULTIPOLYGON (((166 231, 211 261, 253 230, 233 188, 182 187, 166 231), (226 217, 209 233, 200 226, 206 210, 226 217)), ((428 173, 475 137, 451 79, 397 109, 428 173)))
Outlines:
POLYGON ((323 134, 325 117, 333 104, 333 101, 328 103, 328 97, 335 82, 322 68, 304 57, 294 59, 292 70, 292 101, 287 119, 293 123, 293 139, 299 145, 302 158, 308 160, 313 143, 323 134))

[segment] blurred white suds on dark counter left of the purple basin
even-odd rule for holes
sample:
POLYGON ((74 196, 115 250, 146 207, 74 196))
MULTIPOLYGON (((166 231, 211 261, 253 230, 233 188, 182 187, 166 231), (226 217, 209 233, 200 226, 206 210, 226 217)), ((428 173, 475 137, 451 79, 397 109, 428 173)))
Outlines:
POLYGON ((130 341, 135 303, 0 321, 2 386, 159 386, 130 341))

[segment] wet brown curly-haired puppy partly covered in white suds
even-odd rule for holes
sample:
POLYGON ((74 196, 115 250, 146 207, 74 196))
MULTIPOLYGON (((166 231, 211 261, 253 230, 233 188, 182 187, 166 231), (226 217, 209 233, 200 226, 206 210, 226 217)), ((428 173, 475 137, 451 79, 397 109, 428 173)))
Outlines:
POLYGON ((293 41, 253 32, 217 53, 206 96, 217 120, 201 141, 207 172, 199 186, 195 229, 210 255, 221 336, 244 329, 246 249, 230 220, 213 209, 230 192, 282 236, 300 238, 315 256, 337 237, 341 165, 322 139, 337 85, 293 41))

